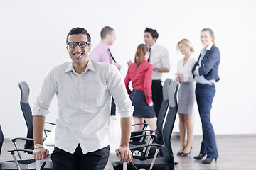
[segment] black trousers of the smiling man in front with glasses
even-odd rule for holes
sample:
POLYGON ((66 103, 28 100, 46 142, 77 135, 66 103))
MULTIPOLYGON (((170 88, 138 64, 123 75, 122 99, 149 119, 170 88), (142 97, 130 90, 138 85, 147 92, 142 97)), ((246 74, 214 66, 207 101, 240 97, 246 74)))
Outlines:
POLYGON ((51 159, 53 161, 53 170, 103 170, 109 155, 110 146, 82 154, 82 149, 78 145, 74 154, 55 147, 53 154, 51 154, 51 159))

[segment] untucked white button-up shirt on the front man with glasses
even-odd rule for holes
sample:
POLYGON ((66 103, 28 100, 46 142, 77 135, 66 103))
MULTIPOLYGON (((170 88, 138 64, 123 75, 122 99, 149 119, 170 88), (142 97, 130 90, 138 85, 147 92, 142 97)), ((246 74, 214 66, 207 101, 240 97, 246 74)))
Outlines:
POLYGON ((111 96, 122 118, 132 116, 134 106, 117 67, 89 60, 85 72, 75 72, 72 62, 50 69, 33 107, 33 115, 46 116, 50 102, 58 98, 55 147, 83 154, 109 145, 111 96))

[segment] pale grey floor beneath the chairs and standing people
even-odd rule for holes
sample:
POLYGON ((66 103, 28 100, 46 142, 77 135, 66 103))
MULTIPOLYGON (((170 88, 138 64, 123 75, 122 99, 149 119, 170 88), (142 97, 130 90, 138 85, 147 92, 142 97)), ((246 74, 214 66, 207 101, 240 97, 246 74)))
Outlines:
MULTIPOLYGON (((193 156, 199 153, 201 145, 201 136, 195 136, 193 138, 193 149, 188 157, 177 157, 176 153, 179 149, 178 137, 172 137, 171 144, 174 150, 175 162, 179 164, 175 166, 177 170, 243 170, 243 169, 256 169, 256 135, 218 135, 216 136, 218 152, 220 157, 217 162, 212 164, 201 164, 200 161, 193 159, 193 156)), ((23 142, 18 142, 19 147, 23 147, 23 142)), ((11 160, 11 154, 7 152, 8 149, 12 149, 14 146, 12 143, 5 139, 4 145, 1 151, 1 162, 5 160, 11 160)), ((21 154, 24 159, 33 158, 28 154, 21 154)), ((105 167, 105 170, 112 169, 112 163, 109 162, 105 167)))

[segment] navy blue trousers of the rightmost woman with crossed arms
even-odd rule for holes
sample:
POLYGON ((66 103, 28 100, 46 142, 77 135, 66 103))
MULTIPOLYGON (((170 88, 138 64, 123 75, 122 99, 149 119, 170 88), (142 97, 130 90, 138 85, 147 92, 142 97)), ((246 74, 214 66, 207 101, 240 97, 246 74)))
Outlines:
POLYGON ((201 154, 207 154, 208 158, 217 158, 218 150, 215 140, 213 125, 210 123, 210 109, 212 108, 215 96, 215 85, 196 84, 196 101, 202 122, 203 141, 201 144, 201 154))

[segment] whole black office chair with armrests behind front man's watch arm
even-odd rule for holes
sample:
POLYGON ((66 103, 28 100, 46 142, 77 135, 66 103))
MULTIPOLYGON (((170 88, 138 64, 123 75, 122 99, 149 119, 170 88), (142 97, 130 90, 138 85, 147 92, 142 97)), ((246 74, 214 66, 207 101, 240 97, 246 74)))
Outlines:
MULTIPOLYGON (((21 89, 21 101, 20 101, 21 111, 23 113, 28 132, 27 132, 26 138, 16 137, 16 138, 11 138, 10 140, 14 143, 14 146, 16 147, 16 149, 18 148, 16 145, 16 140, 26 140, 24 149, 29 149, 29 150, 33 151, 33 147, 34 147, 34 144, 33 144, 33 116, 32 116, 31 107, 29 106, 29 103, 28 103, 29 87, 25 81, 18 83, 18 87, 21 89)), ((55 125, 55 123, 48 123, 48 122, 46 122, 46 123, 50 124, 50 125, 55 125)), ((44 132, 47 137, 46 132, 50 132, 50 130, 45 129, 44 132)), ((32 152, 29 152, 29 151, 27 153, 33 154, 32 152)), ((18 157, 20 157, 20 159, 21 159, 21 154, 18 153, 18 157)))

